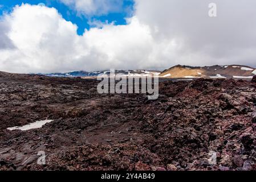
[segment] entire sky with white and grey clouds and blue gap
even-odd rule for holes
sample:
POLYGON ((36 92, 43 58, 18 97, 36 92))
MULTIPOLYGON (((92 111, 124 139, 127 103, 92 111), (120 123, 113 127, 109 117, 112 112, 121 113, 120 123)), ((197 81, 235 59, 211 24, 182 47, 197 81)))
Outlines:
POLYGON ((256 1, 0 0, 0 71, 176 64, 256 67, 256 1))

